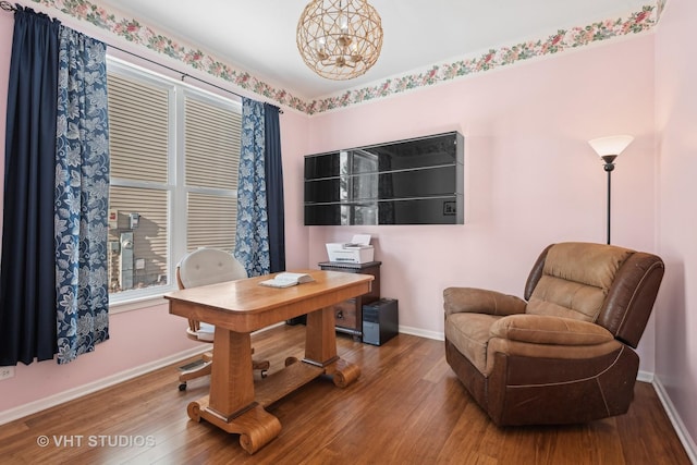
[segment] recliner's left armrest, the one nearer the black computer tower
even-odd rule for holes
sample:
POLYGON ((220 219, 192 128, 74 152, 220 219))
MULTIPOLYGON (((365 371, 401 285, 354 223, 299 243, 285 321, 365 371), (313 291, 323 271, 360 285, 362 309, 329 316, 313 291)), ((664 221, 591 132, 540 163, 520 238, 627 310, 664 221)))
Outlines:
POLYGON ((443 291, 445 315, 470 313, 515 315, 525 313, 527 303, 514 295, 476 287, 448 287, 443 291))

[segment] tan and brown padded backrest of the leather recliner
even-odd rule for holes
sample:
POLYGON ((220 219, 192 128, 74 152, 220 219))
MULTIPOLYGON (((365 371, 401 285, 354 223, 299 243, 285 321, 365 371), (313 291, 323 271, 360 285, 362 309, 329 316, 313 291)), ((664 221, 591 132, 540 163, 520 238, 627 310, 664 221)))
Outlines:
POLYGON ((663 272, 663 261, 652 254, 606 244, 552 244, 528 277, 526 313, 592 321, 636 347, 663 272))

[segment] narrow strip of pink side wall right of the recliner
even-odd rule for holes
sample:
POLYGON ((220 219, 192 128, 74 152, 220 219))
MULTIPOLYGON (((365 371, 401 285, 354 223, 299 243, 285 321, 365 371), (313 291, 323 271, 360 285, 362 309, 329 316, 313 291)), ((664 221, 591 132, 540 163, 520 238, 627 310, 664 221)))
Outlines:
POLYGON ((670 0, 656 39, 658 243, 667 261, 656 375, 697 439, 697 63, 684 53, 685 45, 694 42, 695 21, 697 3, 670 0))

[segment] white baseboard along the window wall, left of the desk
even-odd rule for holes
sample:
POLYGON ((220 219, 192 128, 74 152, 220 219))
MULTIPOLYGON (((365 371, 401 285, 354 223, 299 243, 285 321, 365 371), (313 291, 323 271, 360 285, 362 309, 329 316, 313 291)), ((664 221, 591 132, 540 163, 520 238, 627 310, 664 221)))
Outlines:
MULTIPOLYGON (((203 354, 210 350, 208 344, 201 344, 199 347, 189 348, 178 354, 170 355, 159 360, 150 362, 149 364, 139 365, 137 367, 100 378, 96 381, 87 384, 80 386, 77 388, 69 389, 68 391, 59 392, 58 394, 49 395, 48 397, 40 399, 38 401, 29 402, 28 404, 20 405, 9 411, 0 412, 0 425, 13 421, 19 418, 23 418, 27 415, 41 412, 46 408, 53 407, 68 401, 72 401, 83 395, 91 394, 100 389, 109 388, 110 386, 118 384, 123 381, 127 381, 132 378, 148 374, 150 371, 163 368, 168 365, 172 365, 176 362, 203 354)), ((172 389, 175 389, 175 379, 172 379, 172 389)))

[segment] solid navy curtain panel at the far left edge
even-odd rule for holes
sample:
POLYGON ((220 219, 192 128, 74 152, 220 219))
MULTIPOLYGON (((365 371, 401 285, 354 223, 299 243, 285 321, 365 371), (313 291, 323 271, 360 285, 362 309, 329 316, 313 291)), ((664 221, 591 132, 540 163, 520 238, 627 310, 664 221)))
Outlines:
POLYGON ((53 169, 60 23, 17 8, 10 59, 0 366, 56 353, 53 169))

